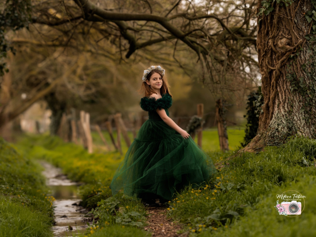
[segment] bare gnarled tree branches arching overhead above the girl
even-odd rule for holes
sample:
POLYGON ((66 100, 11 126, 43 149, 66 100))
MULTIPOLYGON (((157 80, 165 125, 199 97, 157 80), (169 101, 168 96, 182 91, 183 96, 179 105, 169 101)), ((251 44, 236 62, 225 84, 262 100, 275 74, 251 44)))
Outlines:
POLYGON ((90 0, 48 0, 33 6, 32 21, 64 36, 56 37, 55 45, 79 48, 88 42, 103 52, 104 41, 111 41, 121 60, 123 53, 127 59, 134 55, 133 60, 146 55, 144 52, 157 54, 164 43, 173 48, 166 56, 186 70, 177 53, 191 49, 195 53, 191 65, 200 73, 200 80, 224 97, 225 93, 254 87, 258 72, 256 24, 252 20, 255 4, 255 0, 116 0, 102 5, 90 0))

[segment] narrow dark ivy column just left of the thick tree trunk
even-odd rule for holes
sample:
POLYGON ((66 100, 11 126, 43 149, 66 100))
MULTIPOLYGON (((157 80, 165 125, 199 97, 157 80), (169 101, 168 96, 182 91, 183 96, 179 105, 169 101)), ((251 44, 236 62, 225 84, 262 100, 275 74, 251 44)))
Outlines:
POLYGON ((257 135, 258 127, 259 127, 259 115, 257 114, 258 107, 261 108, 260 102, 263 99, 261 93, 261 86, 257 91, 251 91, 248 95, 247 101, 247 115, 244 115, 244 118, 247 118, 247 124, 245 129, 245 137, 243 142, 241 142, 241 146, 245 147, 251 140, 257 135), (259 104, 259 106, 258 106, 259 104))

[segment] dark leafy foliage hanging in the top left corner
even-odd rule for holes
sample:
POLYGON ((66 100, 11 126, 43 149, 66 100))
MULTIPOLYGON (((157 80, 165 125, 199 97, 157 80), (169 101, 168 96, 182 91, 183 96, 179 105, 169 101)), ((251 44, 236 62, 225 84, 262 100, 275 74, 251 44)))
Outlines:
POLYGON ((31 0, 6 0, 5 7, 0 14, 0 76, 8 69, 5 68, 3 58, 7 56, 7 51, 14 49, 5 39, 5 34, 9 30, 19 30, 29 26, 31 22, 31 0))

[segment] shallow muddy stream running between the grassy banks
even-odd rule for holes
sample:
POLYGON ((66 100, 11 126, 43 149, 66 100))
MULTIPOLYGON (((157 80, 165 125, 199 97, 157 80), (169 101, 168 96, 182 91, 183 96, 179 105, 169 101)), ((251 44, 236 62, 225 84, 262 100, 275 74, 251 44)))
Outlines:
POLYGON ((42 174, 47 178, 46 184, 51 191, 49 195, 56 199, 53 203, 56 222, 52 227, 54 237, 84 234, 88 227, 83 222, 87 211, 78 206, 81 200, 78 195, 79 184, 67 179, 67 176, 62 174, 60 168, 46 161, 40 161, 40 164, 45 168, 42 174), (72 231, 69 230, 69 226, 73 228, 72 231))

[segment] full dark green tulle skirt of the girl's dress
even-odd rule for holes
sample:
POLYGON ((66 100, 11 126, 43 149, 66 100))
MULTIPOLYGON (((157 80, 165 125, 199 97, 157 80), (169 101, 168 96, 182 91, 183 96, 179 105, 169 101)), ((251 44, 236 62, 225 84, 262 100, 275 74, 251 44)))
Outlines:
POLYGON ((190 136, 183 138, 164 121, 146 120, 120 163, 112 194, 172 199, 192 184, 198 187, 216 173, 212 159, 190 136))

